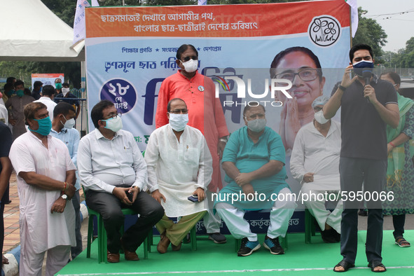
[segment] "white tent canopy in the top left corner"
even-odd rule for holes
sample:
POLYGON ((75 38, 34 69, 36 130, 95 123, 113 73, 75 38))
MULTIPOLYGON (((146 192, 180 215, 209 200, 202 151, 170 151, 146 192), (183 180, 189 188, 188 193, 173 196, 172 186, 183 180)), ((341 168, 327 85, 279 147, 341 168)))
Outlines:
POLYGON ((0 1, 0 60, 83 61, 84 42, 41 0, 0 1))

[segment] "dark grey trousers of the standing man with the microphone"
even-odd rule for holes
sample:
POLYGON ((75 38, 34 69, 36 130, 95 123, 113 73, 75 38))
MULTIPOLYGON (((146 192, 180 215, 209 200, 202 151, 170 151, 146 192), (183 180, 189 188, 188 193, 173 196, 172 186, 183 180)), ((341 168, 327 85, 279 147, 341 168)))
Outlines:
MULTIPOLYGON (((341 157, 339 163, 340 189, 343 193, 364 193, 375 195, 384 191, 387 160, 341 157)), ((371 197, 372 198, 372 197, 371 197)), ((342 198, 344 200, 344 198, 342 198)), ((342 221, 340 224, 340 254, 350 263, 355 263, 358 243, 358 207, 357 200, 344 200, 342 221)), ((368 228, 366 232, 366 258, 368 261, 382 261, 382 207, 380 200, 366 200, 368 207, 368 228)))

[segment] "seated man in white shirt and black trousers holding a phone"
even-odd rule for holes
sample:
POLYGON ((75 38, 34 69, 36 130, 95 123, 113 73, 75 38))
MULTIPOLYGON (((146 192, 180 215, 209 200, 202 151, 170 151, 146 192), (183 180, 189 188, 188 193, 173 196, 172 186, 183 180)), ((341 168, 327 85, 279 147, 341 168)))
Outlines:
POLYGON ((95 130, 83 137, 78 147, 78 172, 85 187, 86 204, 104 220, 108 261, 119 262, 121 246, 127 261, 138 261, 135 251, 163 217, 164 209, 142 192, 147 184, 146 163, 132 133, 121 130, 122 120, 113 103, 98 102, 90 117, 95 130), (122 239, 121 208, 139 214, 137 223, 125 231, 122 239))

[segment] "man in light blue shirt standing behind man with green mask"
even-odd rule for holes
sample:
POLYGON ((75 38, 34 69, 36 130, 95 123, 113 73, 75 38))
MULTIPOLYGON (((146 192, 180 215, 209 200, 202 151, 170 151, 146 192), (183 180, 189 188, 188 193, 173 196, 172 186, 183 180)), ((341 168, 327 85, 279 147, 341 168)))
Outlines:
MULTIPOLYGON (((53 110, 52 130, 50 135, 60 139, 67 146, 72 162, 76 165, 76 159, 78 156, 79 145, 79 132, 74 127, 75 125, 75 109, 74 106, 67 102, 60 102, 55 106, 53 110)), ((79 188, 81 184, 78 177, 78 171, 76 171, 76 192, 72 198, 72 204, 75 209, 75 234, 76 234, 76 247, 71 247, 71 256, 74 259, 78 254, 82 252, 82 236, 81 236, 81 216, 79 214, 81 209, 81 202, 79 199, 79 188)))

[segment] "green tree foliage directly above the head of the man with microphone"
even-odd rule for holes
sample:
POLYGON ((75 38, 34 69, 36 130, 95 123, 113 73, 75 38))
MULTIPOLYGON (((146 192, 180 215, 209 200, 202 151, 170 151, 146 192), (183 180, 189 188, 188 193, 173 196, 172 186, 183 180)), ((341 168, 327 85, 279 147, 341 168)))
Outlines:
MULTIPOLYGON (((371 18, 364 18, 361 15, 365 14, 361 7, 358 8, 358 29, 355 37, 352 39, 352 45, 358 43, 368 44, 373 48, 374 58, 382 55, 381 48, 387 43, 387 34, 378 24, 376 20, 371 18)), ((377 60, 380 62, 380 60, 377 60)))

